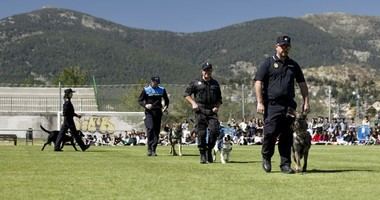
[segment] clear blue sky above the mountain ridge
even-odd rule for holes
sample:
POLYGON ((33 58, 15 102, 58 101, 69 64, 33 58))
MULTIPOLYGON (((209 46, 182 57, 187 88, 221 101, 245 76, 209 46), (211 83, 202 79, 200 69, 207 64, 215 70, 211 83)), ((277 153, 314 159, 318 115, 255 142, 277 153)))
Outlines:
POLYGON ((270 17, 344 12, 380 16, 378 0, 0 0, 0 19, 66 8, 133 28, 201 32, 270 17))

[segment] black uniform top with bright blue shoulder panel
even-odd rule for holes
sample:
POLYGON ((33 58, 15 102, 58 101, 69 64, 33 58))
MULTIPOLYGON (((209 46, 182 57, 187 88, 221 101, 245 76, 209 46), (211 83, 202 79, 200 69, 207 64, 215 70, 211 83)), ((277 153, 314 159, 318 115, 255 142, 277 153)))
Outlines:
POLYGON ((152 104, 152 109, 162 109, 162 98, 165 101, 165 106, 169 106, 168 94, 164 87, 147 86, 141 92, 138 102, 144 108, 146 104, 152 104))

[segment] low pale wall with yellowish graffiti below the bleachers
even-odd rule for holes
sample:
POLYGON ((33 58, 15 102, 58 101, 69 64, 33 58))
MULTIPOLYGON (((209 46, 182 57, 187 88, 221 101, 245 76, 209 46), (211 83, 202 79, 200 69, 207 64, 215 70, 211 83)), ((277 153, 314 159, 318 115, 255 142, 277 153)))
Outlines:
MULTIPOLYGON (((125 130, 144 131, 142 112, 83 112, 81 119, 75 118, 76 127, 83 133, 119 134, 125 130)), ((17 134, 25 138, 28 128, 33 129, 34 138, 46 138, 40 125, 48 130, 57 130, 57 113, 0 113, 0 134, 17 134)))

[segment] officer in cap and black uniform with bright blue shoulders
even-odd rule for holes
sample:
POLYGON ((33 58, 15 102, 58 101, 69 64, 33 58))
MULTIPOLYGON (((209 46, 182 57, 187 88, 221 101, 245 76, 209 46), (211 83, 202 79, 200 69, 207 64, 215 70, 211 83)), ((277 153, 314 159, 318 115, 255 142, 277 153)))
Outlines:
POLYGON ((145 108, 145 126, 148 139, 148 156, 157 156, 156 148, 161 128, 162 113, 169 106, 169 98, 164 87, 159 86, 160 77, 151 78, 149 86, 144 87, 138 103, 145 108), (161 101, 164 99, 164 106, 161 101))

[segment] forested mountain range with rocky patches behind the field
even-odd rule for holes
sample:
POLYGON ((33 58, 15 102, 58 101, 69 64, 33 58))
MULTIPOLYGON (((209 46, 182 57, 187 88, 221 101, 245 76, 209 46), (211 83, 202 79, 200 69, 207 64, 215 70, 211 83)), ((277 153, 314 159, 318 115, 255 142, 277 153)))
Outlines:
POLYGON ((0 20, 0 82, 46 84, 64 68, 79 66, 98 84, 137 83, 152 75, 183 84, 199 76, 205 61, 222 83, 248 82, 283 34, 292 38, 291 56, 305 70, 355 65, 379 71, 379 17, 310 14, 177 33, 44 8, 0 20))

